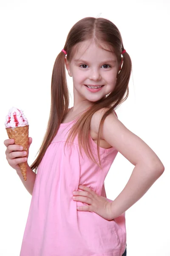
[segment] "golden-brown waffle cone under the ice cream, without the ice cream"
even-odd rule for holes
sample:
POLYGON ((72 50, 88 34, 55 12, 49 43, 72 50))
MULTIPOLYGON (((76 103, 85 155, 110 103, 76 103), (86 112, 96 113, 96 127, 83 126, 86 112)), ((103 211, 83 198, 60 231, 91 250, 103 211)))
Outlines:
MULTIPOLYGON (((28 154, 28 131, 29 125, 6 128, 9 139, 14 139, 16 145, 23 146, 23 151, 28 154)), ((27 180, 27 162, 19 163, 24 180, 27 180)))

